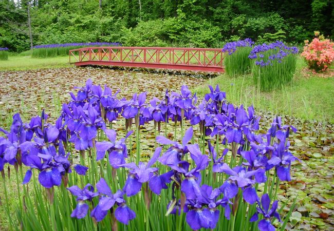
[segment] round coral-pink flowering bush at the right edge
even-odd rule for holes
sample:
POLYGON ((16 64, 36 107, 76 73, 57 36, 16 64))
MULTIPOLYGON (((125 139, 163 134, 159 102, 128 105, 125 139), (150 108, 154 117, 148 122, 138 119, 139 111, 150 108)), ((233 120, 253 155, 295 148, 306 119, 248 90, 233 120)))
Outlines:
POLYGON ((308 40, 305 41, 302 56, 310 69, 325 71, 334 60, 333 47, 334 43, 328 39, 324 39, 323 35, 321 35, 313 38, 311 43, 308 40))

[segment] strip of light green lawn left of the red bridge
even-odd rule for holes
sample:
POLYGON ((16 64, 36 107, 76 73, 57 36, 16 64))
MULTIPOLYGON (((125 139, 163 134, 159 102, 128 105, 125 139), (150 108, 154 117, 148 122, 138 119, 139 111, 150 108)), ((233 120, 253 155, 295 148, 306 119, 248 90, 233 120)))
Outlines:
POLYGON ((32 58, 31 56, 9 56, 8 60, 0 61, 2 70, 31 70, 40 68, 69 67, 68 56, 49 57, 46 59, 32 58))

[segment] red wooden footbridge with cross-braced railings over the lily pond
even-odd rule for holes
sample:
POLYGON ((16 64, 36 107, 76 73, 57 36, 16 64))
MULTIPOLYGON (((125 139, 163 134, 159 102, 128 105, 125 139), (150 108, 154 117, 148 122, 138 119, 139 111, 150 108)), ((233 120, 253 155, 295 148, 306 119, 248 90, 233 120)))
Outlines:
POLYGON ((221 49, 173 47, 84 47, 69 51, 76 66, 121 67, 224 72, 221 49))

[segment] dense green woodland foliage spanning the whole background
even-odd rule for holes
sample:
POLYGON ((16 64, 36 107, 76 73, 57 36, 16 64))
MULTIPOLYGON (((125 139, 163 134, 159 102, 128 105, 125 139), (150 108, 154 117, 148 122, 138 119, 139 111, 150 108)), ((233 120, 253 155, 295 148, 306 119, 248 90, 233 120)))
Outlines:
POLYGON ((0 0, 0 47, 70 42, 221 47, 250 37, 300 43, 314 30, 333 36, 331 0, 0 0), (28 7, 29 6, 29 7, 28 7))

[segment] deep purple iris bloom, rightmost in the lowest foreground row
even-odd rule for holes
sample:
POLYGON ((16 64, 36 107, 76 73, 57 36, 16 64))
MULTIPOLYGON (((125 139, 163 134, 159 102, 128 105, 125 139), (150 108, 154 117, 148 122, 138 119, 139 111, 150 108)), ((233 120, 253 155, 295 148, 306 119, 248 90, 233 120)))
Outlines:
POLYGON ((268 194, 264 194, 261 198, 261 203, 258 201, 258 207, 256 208, 255 214, 251 217, 250 222, 258 220, 258 214, 262 214, 264 219, 258 222, 258 228, 261 231, 275 231, 276 228, 271 224, 273 217, 281 221, 279 213, 276 212, 278 201, 274 201, 270 207, 270 198, 268 194))

